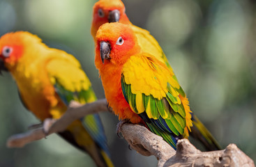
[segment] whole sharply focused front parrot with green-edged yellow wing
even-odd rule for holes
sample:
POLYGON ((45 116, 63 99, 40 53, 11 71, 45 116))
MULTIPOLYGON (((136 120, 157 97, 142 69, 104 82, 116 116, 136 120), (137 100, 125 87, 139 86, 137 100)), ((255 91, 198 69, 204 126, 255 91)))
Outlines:
MULTIPOLYGON (((195 116, 172 68, 139 41, 130 24, 106 23, 98 29, 95 64, 107 102, 121 120, 146 125, 176 149, 179 138, 188 138, 195 116)), ((203 128, 209 149, 219 149, 203 128)))

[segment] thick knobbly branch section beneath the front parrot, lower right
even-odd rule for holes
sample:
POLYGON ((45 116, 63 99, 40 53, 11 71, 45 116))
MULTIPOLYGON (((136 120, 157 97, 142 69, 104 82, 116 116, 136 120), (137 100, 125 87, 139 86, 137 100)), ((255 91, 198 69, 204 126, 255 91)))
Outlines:
POLYGON ((146 127, 126 123, 121 127, 121 133, 131 148, 144 156, 154 155, 158 167, 255 166, 253 160, 234 144, 229 144, 225 150, 201 152, 188 139, 181 139, 175 152, 163 138, 149 132, 146 127))

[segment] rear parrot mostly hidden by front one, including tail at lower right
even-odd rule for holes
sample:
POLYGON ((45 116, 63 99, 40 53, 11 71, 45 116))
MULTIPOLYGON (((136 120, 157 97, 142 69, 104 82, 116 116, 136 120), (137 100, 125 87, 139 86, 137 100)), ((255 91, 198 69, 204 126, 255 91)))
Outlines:
MULTIPOLYGON (((121 0, 100 0, 96 2, 93 6, 93 21, 91 25, 91 35, 93 35, 94 40, 96 40, 97 30, 102 24, 107 22, 129 24, 137 37, 138 45, 141 47, 142 51, 155 56, 158 61, 165 63, 172 72, 172 67, 170 66, 170 63, 168 63, 167 58, 156 39, 153 38, 149 31, 133 25, 125 12, 126 9, 121 0)), ((182 88, 181 91, 183 91, 182 88)), ((220 150, 220 146, 206 127, 204 127, 202 122, 200 122, 193 113, 191 113, 191 115, 193 125, 195 125, 191 127, 191 136, 201 141, 207 150, 220 150)))

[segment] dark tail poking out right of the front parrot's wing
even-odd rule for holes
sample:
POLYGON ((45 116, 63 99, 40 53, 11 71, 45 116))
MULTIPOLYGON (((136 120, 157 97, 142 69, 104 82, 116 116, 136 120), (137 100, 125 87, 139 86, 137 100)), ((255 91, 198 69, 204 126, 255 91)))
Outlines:
POLYGON ((191 127, 190 136, 199 140, 206 150, 221 150, 220 145, 216 141, 215 138, 211 135, 211 133, 204 127, 202 122, 194 115, 192 115, 193 127, 191 127))

